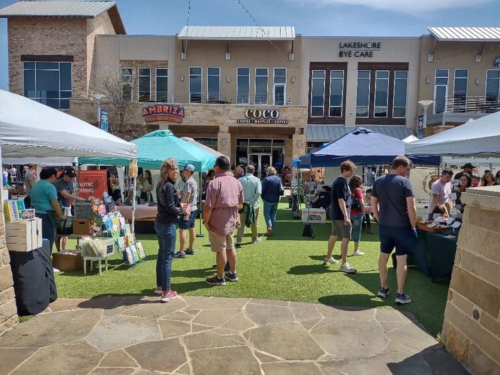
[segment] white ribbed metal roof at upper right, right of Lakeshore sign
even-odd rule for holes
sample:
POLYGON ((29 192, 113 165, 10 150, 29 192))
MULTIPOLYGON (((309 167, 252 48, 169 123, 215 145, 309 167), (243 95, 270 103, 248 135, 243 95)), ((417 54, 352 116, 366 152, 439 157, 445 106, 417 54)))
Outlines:
POLYGON ((428 27, 440 41, 500 42, 500 27, 428 27))

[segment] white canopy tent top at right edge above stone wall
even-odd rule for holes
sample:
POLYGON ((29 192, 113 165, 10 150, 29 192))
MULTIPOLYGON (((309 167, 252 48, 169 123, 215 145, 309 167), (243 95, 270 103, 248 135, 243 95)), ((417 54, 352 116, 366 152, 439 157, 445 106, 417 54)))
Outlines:
POLYGON ((410 142, 405 153, 428 156, 500 156, 500 112, 410 142))

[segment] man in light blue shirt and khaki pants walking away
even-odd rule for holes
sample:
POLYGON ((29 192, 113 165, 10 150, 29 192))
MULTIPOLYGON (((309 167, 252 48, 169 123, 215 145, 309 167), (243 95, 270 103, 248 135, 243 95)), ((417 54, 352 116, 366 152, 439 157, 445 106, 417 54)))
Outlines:
MULTIPOLYGON (((259 219, 259 210, 260 210, 260 193, 262 192, 262 185, 260 184, 260 180, 253 176, 255 172, 255 167, 253 165, 247 165, 247 174, 245 174, 242 178, 240 178, 240 183, 243 187, 243 198, 244 203, 249 203, 255 209, 255 220, 251 223, 251 231, 252 231, 252 242, 254 244, 258 244, 262 241, 262 238, 258 237, 258 219, 259 219)), ((244 205, 246 206, 246 205, 244 205)), ((236 246, 240 246, 242 243, 245 222, 247 221, 247 207, 244 207, 243 212, 240 215, 241 226, 238 228, 238 237, 236 238, 236 246)))

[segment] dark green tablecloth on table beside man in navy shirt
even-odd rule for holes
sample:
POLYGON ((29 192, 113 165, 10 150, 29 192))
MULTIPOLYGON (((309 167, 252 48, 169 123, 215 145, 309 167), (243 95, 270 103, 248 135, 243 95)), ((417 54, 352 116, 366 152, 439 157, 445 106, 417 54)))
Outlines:
POLYGON ((431 233, 417 229, 419 241, 417 251, 408 256, 408 265, 416 265, 426 276, 435 281, 451 275, 455 263, 457 238, 447 238, 442 233, 431 233))

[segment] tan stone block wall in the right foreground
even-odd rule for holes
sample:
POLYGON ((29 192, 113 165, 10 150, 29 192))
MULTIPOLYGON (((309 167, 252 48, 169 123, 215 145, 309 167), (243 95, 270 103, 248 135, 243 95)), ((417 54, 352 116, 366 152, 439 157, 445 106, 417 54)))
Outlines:
POLYGON ((500 374, 500 186, 467 189, 443 343, 474 374, 500 374))

